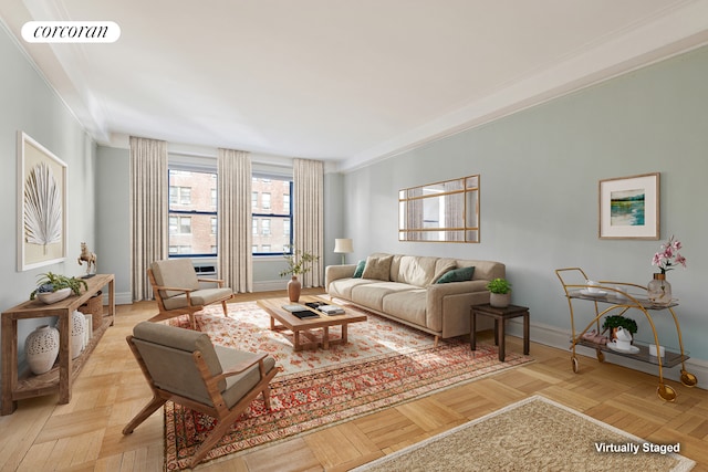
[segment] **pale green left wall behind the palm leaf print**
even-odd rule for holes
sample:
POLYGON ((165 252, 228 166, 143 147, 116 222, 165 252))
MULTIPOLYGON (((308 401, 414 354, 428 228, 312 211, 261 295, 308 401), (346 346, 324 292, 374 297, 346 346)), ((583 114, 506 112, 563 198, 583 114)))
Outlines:
MULTIPOLYGON (((0 310, 28 300, 37 277, 44 272, 82 275, 81 242, 95 248, 95 144, 79 125, 0 22, 0 310), (66 261, 24 272, 17 271, 17 133, 22 130, 67 165, 66 261)), ((53 323, 53 319, 49 319, 53 323)), ((20 358, 24 338, 48 319, 18 325, 20 358)))

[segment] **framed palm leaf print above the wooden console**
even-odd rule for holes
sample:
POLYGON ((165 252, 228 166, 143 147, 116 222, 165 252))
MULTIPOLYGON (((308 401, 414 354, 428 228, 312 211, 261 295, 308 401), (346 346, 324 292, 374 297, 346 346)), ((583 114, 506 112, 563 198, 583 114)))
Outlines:
POLYGON ((66 164, 18 132, 18 271, 66 259, 66 164))

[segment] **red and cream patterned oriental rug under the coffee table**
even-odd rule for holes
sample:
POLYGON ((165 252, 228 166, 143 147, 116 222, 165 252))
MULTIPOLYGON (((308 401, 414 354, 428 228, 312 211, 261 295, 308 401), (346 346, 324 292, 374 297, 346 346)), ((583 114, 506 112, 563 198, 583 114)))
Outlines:
MULTIPOLYGON (((237 454, 336 422, 413 400, 435 391, 532 361, 497 347, 464 338, 440 340, 403 324, 364 312, 367 321, 348 326, 348 343, 329 350, 292 347, 292 333, 272 332, 270 316, 256 302, 207 307, 197 327, 216 345, 268 353, 283 371, 271 382, 271 410, 261 397, 241 416, 205 461, 237 454)), ((347 311, 357 308, 345 305, 347 311)), ((166 322, 188 326, 188 318, 166 322)), ((330 329, 337 337, 339 328, 330 329)), ((165 405, 165 468, 187 468, 189 458, 214 428, 209 416, 168 401, 165 405)))

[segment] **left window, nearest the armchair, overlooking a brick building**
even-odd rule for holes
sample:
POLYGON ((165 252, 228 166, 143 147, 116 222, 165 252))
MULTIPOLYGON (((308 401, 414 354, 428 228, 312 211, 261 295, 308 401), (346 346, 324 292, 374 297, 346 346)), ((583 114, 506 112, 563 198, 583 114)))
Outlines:
POLYGON ((169 254, 216 255, 217 174, 170 167, 169 254))

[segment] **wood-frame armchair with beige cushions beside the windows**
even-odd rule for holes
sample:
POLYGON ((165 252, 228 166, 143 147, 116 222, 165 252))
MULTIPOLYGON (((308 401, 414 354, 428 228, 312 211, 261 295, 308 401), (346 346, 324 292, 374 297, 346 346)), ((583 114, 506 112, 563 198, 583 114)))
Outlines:
POLYGON ((233 297, 233 291, 223 286, 220 279, 199 279, 188 259, 155 261, 147 269, 159 313, 150 322, 189 315, 189 324, 197 328, 195 313, 214 303, 221 303, 223 316, 228 316, 226 302, 233 297), (216 289, 201 289, 200 283, 216 283, 216 289))

